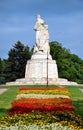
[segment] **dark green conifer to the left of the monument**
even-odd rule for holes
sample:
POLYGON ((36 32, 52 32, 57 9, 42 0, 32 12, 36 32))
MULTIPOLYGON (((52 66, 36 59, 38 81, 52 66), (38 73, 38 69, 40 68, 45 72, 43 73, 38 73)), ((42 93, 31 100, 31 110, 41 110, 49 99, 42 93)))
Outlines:
POLYGON ((17 78, 24 77, 26 62, 31 58, 29 47, 18 41, 10 49, 8 56, 6 81, 14 81, 17 78))

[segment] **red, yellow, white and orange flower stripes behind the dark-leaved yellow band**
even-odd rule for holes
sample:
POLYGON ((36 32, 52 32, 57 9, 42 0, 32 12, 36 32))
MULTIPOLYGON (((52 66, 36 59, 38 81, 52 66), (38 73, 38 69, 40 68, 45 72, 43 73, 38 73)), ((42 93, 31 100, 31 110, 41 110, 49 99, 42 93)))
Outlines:
POLYGON ((20 88, 12 103, 10 114, 23 114, 32 110, 40 112, 74 111, 69 96, 64 98, 66 95, 70 95, 66 88, 20 88), (55 98, 56 96, 58 97, 55 98))

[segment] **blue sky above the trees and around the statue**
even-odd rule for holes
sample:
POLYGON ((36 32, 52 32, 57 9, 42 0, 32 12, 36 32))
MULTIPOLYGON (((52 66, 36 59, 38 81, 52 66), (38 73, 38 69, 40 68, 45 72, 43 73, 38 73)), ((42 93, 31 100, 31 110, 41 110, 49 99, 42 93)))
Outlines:
POLYGON ((83 0, 0 0, 0 58, 18 40, 33 47, 37 14, 48 25, 50 41, 83 59, 83 0))

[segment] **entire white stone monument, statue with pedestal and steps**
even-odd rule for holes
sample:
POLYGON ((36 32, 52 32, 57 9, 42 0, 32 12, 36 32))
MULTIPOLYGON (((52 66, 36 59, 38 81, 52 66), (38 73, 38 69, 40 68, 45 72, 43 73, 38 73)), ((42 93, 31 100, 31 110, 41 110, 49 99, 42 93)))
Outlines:
POLYGON ((67 79, 58 77, 56 61, 50 55, 48 26, 45 21, 37 15, 36 43, 31 60, 27 61, 25 78, 8 82, 7 85, 77 85, 67 79))

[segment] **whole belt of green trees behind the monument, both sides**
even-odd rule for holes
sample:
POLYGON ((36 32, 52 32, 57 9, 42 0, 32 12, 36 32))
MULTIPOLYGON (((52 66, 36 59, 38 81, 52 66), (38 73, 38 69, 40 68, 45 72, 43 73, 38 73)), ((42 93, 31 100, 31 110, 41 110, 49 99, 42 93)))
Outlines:
MULTIPOLYGON (((26 62, 31 58, 32 50, 20 41, 14 44, 8 52, 8 59, 0 59, 0 84, 24 77, 26 62)), ((50 42, 50 53, 57 62, 60 78, 83 84, 82 59, 56 41, 50 42)))

